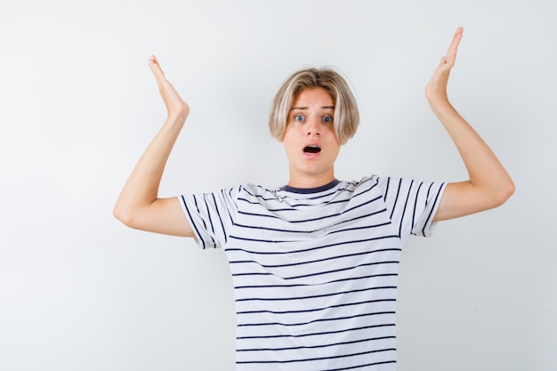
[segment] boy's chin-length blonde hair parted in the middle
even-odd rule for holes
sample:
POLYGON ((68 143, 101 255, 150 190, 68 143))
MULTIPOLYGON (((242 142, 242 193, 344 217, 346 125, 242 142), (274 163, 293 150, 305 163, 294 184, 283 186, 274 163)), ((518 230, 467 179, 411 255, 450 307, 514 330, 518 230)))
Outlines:
POLYGON ((321 87, 335 101, 335 134, 340 144, 345 144, 356 133, 359 124, 359 111, 356 99, 346 80, 335 69, 302 69, 288 77, 278 89, 270 107, 270 134, 283 141, 287 120, 296 96, 307 88, 321 87))

